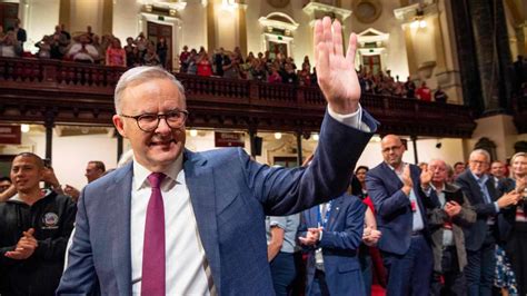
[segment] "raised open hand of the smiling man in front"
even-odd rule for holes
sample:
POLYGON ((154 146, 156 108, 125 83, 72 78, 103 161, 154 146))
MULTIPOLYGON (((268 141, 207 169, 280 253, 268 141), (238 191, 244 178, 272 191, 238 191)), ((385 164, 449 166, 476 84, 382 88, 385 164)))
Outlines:
POLYGON ((358 108, 360 85, 355 71, 357 36, 351 33, 344 56, 342 28, 338 20, 325 17, 315 22, 315 67, 318 85, 331 110, 351 114, 358 108))

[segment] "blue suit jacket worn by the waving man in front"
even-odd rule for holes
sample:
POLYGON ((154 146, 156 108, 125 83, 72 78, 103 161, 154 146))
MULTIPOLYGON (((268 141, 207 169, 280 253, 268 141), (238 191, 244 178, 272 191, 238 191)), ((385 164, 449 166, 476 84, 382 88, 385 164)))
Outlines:
MULTIPOLYGON (((362 120, 376 130, 376 121, 362 120)), ((270 168, 242 149, 185 151, 190 200, 220 295, 272 295, 266 216, 290 215, 341 195, 371 137, 326 115, 308 168, 270 168), (347 149, 342 149, 347 147, 347 149)), ((88 185, 58 294, 131 294, 132 164, 88 185)))

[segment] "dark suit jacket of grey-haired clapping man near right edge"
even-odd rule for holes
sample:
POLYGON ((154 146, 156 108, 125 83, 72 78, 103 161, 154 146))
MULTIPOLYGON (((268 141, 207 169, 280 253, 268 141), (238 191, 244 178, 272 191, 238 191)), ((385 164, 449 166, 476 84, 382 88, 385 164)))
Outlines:
POLYGON ((489 177, 485 185, 487 186, 487 190, 493 203, 486 204, 481 194, 481 189, 479 188, 479 185, 476 181, 476 178, 474 178, 470 169, 461 172, 461 175, 457 177, 456 184, 461 187, 463 193, 470 201, 470 205, 474 207, 474 210, 477 215, 476 223, 463 228, 465 234, 465 247, 468 250, 479 250, 485 241, 485 237, 487 236, 487 219, 489 217, 496 217, 496 223, 503 225, 501 221, 498 221, 503 219, 503 216, 497 215, 496 206, 494 205, 494 201, 496 201, 498 198, 498 193, 494 186, 493 178, 489 177))

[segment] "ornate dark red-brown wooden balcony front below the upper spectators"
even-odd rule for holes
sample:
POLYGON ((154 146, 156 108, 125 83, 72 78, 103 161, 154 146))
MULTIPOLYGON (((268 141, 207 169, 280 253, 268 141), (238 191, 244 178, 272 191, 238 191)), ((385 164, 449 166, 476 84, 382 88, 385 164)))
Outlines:
MULTIPOLYGON (((84 63, 0 58, 0 121, 111 126, 113 88, 126 69, 84 63)), ((326 102, 318 87, 292 87, 176 73, 186 88, 188 126, 311 132, 326 102)), ((470 137, 468 107, 364 95, 380 134, 470 137)))

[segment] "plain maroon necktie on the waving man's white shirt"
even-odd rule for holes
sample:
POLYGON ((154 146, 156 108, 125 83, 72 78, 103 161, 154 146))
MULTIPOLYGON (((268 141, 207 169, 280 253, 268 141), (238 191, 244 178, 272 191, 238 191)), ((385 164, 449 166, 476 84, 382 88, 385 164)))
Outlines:
POLYGON ((165 209, 160 185, 165 174, 152 172, 148 181, 152 194, 148 201, 142 249, 141 295, 166 295, 165 289, 165 209))

